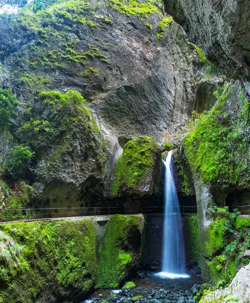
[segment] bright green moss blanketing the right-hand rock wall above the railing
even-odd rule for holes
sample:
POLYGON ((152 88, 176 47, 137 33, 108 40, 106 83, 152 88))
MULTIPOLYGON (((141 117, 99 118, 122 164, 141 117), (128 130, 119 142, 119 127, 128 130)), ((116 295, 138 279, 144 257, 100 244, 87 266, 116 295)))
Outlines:
POLYGON ((232 122, 224 111, 231 89, 228 84, 215 92, 218 96, 215 107, 201 115, 195 113, 192 132, 184 138, 189 164, 204 182, 237 184, 249 180, 244 120, 232 122))

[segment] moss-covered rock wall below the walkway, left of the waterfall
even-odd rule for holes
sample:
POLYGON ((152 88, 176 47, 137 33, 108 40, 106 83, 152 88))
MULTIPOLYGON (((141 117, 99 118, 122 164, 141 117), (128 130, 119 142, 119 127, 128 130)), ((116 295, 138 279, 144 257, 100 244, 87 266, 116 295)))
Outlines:
POLYGON ((11 252, 0 261, 0 301, 82 301, 95 285, 122 286, 140 262, 143 220, 115 215, 104 234, 91 220, 2 224, 11 252))

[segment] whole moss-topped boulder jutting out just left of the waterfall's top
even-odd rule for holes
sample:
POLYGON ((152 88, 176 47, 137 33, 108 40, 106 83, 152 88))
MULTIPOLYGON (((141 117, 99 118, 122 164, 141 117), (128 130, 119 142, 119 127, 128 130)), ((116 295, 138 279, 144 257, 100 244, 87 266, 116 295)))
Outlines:
POLYGON ((151 137, 141 136, 129 141, 115 165, 112 195, 152 194, 159 162, 160 147, 151 137))

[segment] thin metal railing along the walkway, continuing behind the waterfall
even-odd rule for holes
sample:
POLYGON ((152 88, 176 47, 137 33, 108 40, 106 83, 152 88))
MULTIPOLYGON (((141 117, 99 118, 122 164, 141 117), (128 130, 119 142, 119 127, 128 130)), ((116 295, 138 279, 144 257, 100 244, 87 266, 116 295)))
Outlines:
MULTIPOLYGON (((173 208, 172 214, 177 213, 178 208, 173 208)), ((180 213, 197 213, 196 206, 181 206, 180 213)), ((156 215, 164 213, 164 206, 146 206, 141 207, 136 213, 144 215, 156 215)), ((111 216, 115 214, 131 214, 124 207, 94 207, 94 208, 42 208, 42 209, 2 209, 0 210, 0 223, 7 223, 13 221, 38 221, 51 219, 66 219, 73 217, 97 217, 97 216, 111 216)))

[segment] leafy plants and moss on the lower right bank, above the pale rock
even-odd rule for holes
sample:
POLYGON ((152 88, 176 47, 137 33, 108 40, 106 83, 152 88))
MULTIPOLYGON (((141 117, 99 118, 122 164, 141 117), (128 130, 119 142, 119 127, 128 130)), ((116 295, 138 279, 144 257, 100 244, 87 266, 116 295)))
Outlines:
POLYGON ((243 255, 250 248, 250 219, 229 213, 228 208, 213 210, 213 222, 208 227, 209 239, 205 242, 210 278, 218 287, 227 286, 236 272, 248 259, 243 255))

